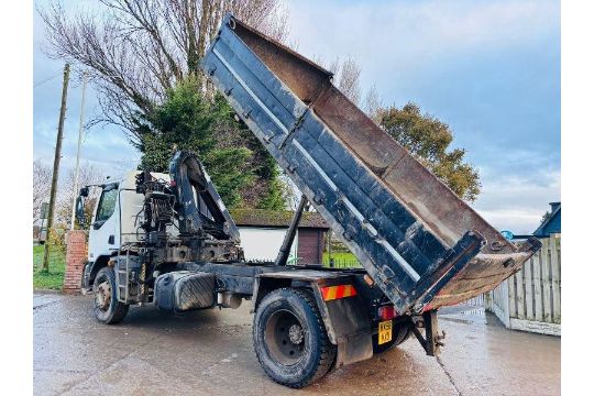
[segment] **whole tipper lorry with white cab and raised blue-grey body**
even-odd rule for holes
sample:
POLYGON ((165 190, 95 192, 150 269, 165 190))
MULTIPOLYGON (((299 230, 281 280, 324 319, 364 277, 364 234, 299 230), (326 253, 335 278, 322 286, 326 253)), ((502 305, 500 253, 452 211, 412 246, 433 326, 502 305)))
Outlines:
POLYGON ((342 95, 330 72, 233 15, 201 67, 302 193, 299 208, 277 258, 255 263, 195 154, 177 152, 169 174, 132 172, 101 185, 82 274, 101 322, 121 321, 131 305, 185 312, 251 300, 263 370, 302 387, 409 336, 438 354, 437 310, 493 289, 539 250, 537 239, 518 246, 503 238, 342 95), (363 268, 287 265, 307 201, 363 268))

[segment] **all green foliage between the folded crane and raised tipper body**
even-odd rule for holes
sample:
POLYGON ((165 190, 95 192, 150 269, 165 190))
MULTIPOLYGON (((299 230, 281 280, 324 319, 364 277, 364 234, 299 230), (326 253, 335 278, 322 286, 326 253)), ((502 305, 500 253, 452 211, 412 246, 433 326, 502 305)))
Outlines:
POLYGON ((200 87, 190 76, 167 91, 163 105, 136 118, 141 168, 167 172, 175 150, 190 150, 228 207, 284 208, 274 160, 222 96, 209 100, 200 87))

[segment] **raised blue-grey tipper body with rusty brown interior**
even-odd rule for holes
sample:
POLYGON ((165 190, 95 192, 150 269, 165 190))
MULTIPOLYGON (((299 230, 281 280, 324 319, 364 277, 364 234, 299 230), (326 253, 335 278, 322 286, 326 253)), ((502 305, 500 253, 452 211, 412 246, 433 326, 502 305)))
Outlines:
POLYGON ((201 66, 399 312, 487 292, 540 248, 506 241, 345 98, 331 73, 232 15, 201 66))

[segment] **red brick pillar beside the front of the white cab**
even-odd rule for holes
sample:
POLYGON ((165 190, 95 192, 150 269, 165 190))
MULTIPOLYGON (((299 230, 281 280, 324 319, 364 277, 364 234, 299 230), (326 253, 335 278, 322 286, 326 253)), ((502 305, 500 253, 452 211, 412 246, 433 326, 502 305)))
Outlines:
POLYGON ((80 293, 82 267, 87 261, 87 233, 84 230, 68 231, 66 235, 66 273, 64 292, 80 293))

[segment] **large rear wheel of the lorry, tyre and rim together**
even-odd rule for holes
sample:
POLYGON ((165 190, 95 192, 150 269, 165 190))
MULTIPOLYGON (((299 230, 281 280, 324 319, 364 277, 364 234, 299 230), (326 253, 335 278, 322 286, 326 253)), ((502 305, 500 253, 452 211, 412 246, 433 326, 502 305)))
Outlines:
POLYGON ((266 374, 293 388, 321 378, 337 355, 316 300, 306 289, 282 288, 266 295, 254 317, 253 340, 266 374))

